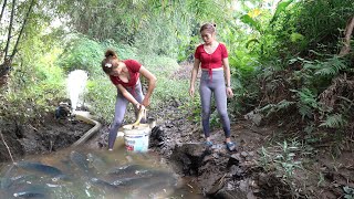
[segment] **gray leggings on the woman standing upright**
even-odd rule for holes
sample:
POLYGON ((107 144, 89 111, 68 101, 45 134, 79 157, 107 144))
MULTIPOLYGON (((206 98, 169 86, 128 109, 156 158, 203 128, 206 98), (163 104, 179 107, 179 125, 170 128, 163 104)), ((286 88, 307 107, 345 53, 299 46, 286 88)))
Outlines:
POLYGON ((201 71, 200 77, 200 101, 201 101, 201 123, 206 137, 210 136, 210 105, 211 94, 216 101, 217 109, 222 123, 225 137, 230 137, 230 119, 227 112, 227 95, 225 86, 223 71, 212 71, 212 80, 210 80, 208 71, 201 71))

